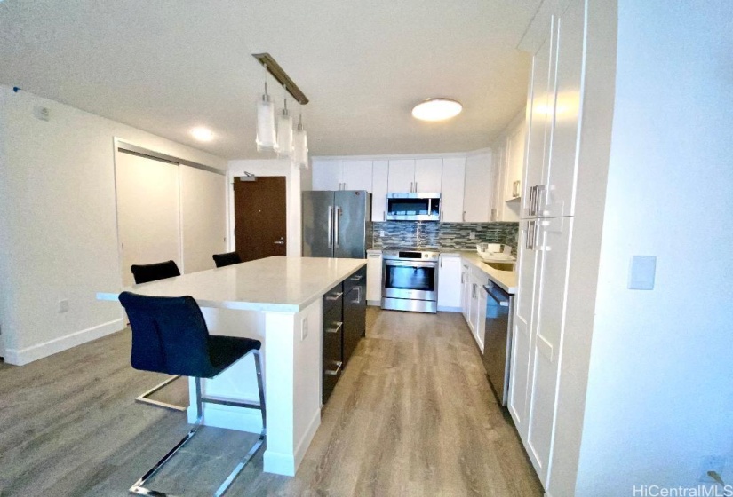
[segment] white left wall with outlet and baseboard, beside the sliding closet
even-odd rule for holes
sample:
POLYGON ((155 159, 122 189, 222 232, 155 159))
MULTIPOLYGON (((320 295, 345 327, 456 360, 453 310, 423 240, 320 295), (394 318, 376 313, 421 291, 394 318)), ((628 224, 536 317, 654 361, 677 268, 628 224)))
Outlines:
POLYGON ((95 299, 121 287, 115 137, 221 170, 227 162, 2 85, 0 130, 0 327, 6 361, 24 364, 122 328, 119 306, 95 299))

